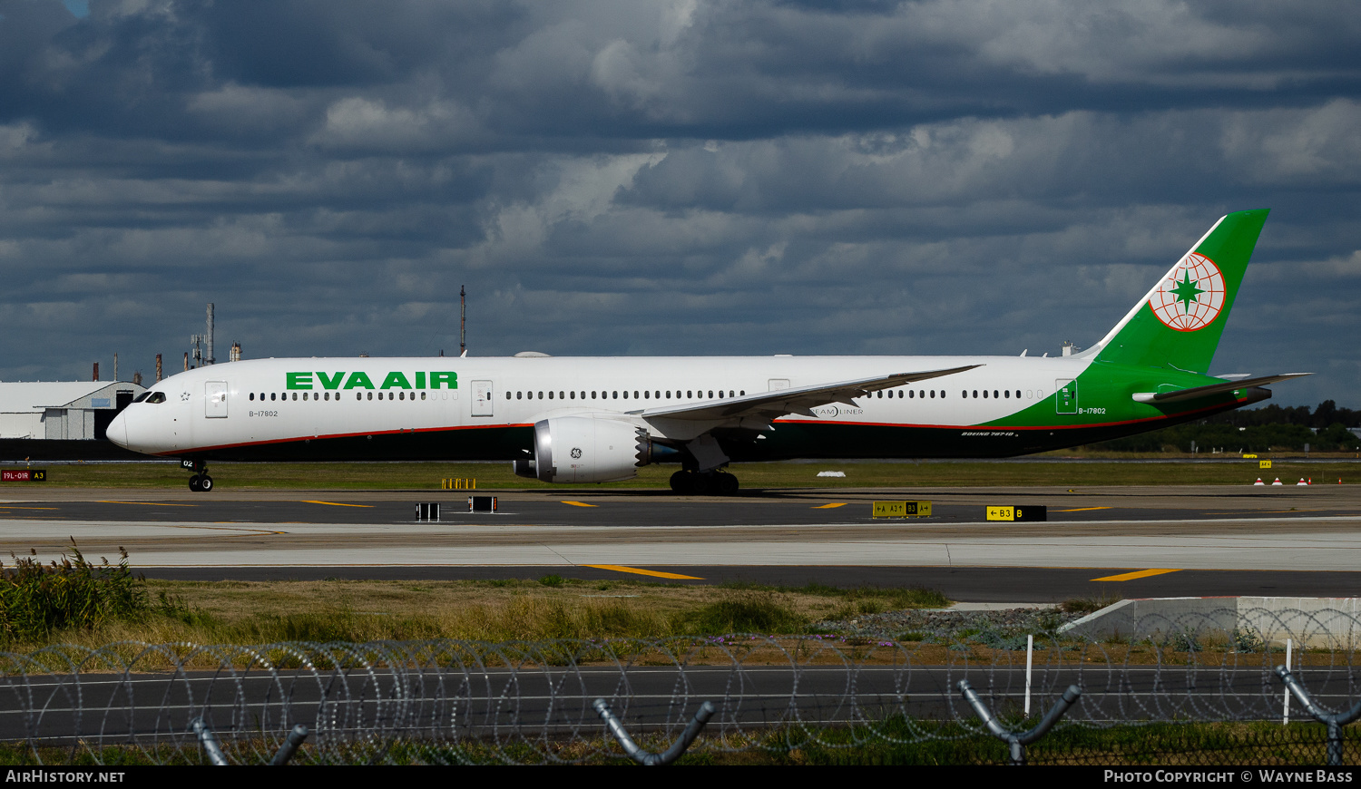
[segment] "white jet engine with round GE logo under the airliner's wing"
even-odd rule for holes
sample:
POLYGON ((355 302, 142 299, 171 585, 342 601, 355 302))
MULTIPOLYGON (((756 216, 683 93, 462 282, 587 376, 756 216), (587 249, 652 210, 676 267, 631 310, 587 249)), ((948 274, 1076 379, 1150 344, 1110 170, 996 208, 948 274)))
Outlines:
POLYGON ((648 431, 617 419, 558 416, 534 426, 534 460, 514 461, 520 476, 542 482, 617 482, 660 456, 679 453, 652 441, 648 431))

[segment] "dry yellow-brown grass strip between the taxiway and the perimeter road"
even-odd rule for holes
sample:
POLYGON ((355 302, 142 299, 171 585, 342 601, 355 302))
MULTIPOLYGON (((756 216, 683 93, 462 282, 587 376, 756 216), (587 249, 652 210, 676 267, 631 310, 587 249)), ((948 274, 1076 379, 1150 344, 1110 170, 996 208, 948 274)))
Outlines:
POLYGON ((146 581, 133 619, 10 638, 4 649, 279 641, 543 641, 806 633, 864 601, 940 607, 939 592, 832 586, 690 586, 546 575, 497 581, 146 581))

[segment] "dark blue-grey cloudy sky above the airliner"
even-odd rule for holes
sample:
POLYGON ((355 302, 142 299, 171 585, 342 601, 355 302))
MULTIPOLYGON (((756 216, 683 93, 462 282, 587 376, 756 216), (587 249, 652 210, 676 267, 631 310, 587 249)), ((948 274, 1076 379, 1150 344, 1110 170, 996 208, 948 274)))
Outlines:
POLYGON ((1211 373, 1361 397, 1361 10, 0 0, 0 380, 1056 354, 1273 208, 1211 373))

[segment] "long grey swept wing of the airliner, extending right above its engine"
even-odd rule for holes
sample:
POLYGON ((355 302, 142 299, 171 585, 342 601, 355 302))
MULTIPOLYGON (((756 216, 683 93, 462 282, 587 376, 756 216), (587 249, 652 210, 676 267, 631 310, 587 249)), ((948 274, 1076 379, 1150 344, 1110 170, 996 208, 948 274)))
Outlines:
POLYGON ((630 411, 638 416, 667 416, 671 419, 736 419, 743 416, 762 416, 776 419, 787 414, 802 414, 803 416, 817 416, 813 412, 818 405, 832 403, 845 403, 855 405, 853 397, 864 397, 881 389, 893 389, 904 384, 915 384, 942 375, 953 375, 973 370, 983 365, 968 365, 951 367, 949 370, 927 370, 921 373, 894 373, 878 378, 863 378, 859 381, 840 381, 836 384, 822 384, 818 386, 799 386, 793 389, 776 389, 774 392, 758 392, 743 397, 728 397, 724 400, 705 400, 701 403, 687 403, 685 405, 666 405, 661 408, 645 408, 630 411))

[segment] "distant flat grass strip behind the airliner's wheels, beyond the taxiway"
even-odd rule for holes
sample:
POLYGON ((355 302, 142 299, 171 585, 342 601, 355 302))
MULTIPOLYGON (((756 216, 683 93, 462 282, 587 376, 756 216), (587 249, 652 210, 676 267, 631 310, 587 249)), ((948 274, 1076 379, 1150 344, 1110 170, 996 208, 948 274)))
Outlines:
MULTIPOLYGON (((1222 456, 1219 456, 1222 457, 1222 456)), ((124 487, 180 490, 188 472, 163 461, 48 465, 45 487, 124 487)), ((444 479, 476 479, 479 491, 547 490, 553 486, 510 473, 506 463, 214 463, 212 476, 223 488, 323 488, 323 490, 440 490, 444 479)), ((666 490, 675 465, 649 465, 638 476, 587 490, 666 490)), ((1313 477, 1319 484, 1351 484, 1361 479, 1361 461, 1337 458, 1326 463, 1275 460, 1259 469, 1258 461, 1142 463, 1026 463, 981 461, 818 461, 750 463, 732 467, 746 490, 759 488, 876 488, 876 487, 973 487, 973 486, 1109 486, 1109 484, 1249 484, 1256 477, 1279 476, 1282 482, 1313 477), (819 477, 819 471, 842 471, 845 477, 819 477)), ((34 483, 23 483, 34 484, 34 483)), ((11 483, 5 490, 15 488, 11 483)), ((561 486, 558 486, 561 490, 561 486)))

